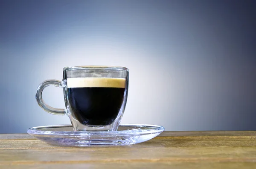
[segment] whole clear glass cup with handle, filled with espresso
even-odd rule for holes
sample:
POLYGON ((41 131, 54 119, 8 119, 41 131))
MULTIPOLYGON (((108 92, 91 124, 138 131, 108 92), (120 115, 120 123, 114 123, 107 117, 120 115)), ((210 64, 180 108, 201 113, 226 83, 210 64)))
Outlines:
POLYGON ((129 70, 114 66, 75 66, 63 69, 63 79, 46 80, 36 92, 38 105, 53 115, 68 115, 74 131, 116 131, 128 95, 129 70), (47 86, 63 88, 65 109, 42 99, 47 86))

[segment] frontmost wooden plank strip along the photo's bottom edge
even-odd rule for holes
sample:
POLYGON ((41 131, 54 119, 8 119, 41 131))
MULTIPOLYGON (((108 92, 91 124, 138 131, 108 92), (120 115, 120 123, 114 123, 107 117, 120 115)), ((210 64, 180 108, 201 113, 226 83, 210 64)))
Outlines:
POLYGON ((0 169, 255 169, 251 162, 75 163, 2 165, 0 169))

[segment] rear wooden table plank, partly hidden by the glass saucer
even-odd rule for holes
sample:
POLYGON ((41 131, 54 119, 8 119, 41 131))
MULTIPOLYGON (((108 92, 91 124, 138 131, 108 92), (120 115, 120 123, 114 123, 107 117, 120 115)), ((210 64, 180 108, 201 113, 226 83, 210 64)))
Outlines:
MULTIPOLYGON (((215 146, 256 146, 256 136, 211 136, 211 137, 156 137, 144 143, 124 147, 215 147, 215 146)), ((42 149, 42 148, 63 148, 52 146, 40 140, 0 140, 0 149, 42 149)), ((121 148, 121 146, 117 147, 121 148)), ((84 149, 84 148, 79 148, 84 149)), ((86 149, 86 148, 85 148, 86 149)))

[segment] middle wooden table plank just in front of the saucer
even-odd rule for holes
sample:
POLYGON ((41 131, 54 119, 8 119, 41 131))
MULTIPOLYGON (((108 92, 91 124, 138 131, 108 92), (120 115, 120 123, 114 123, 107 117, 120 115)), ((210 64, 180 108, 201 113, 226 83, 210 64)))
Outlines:
POLYGON ((256 147, 63 148, 1 150, 1 164, 256 162, 256 147))

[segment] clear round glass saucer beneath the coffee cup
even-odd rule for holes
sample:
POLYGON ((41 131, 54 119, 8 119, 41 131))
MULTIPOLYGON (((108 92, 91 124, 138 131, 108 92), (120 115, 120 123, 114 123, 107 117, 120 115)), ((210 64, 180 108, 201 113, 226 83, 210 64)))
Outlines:
POLYGON ((163 131, 163 126, 120 124, 114 132, 74 132, 71 125, 32 127, 27 132, 57 146, 125 146, 150 140, 163 131))

